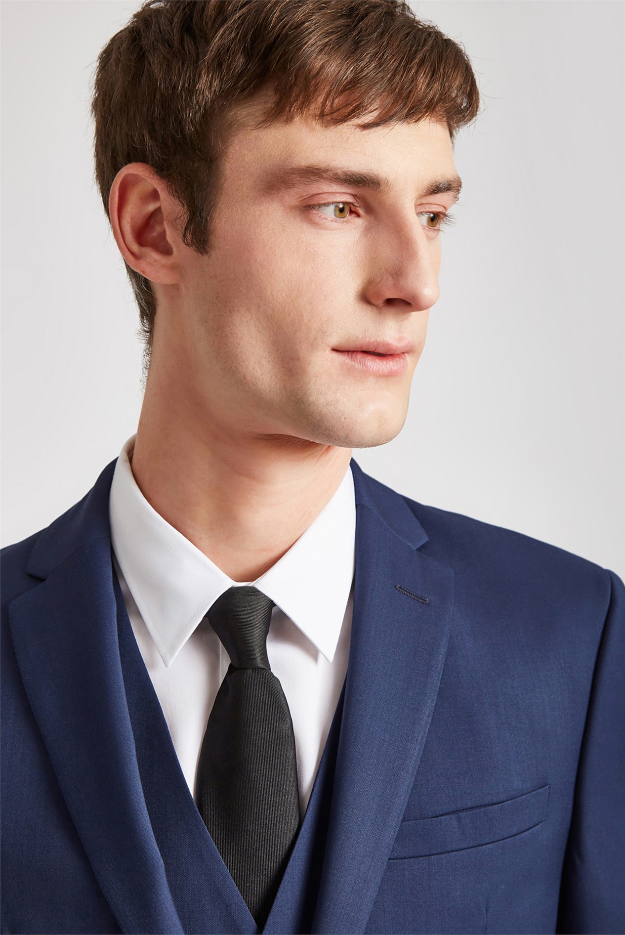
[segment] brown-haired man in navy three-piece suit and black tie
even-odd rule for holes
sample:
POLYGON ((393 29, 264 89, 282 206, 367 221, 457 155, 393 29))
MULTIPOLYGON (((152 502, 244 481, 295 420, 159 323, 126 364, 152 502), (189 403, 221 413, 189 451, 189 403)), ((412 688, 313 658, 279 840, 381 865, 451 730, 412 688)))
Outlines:
POLYGON ((351 458, 477 109, 394 0, 152 2, 103 50, 147 384, 3 553, 3 931, 625 928, 623 583, 351 458))

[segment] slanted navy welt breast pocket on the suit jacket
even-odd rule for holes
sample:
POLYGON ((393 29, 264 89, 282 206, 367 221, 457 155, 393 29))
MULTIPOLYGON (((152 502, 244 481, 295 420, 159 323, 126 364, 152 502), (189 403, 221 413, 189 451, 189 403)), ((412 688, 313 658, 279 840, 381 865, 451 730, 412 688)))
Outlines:
POLYGON ((403 821, 389 859, 447 854, 511 838, 545 821, 548 798, 547 784, 504 802, 403 821))

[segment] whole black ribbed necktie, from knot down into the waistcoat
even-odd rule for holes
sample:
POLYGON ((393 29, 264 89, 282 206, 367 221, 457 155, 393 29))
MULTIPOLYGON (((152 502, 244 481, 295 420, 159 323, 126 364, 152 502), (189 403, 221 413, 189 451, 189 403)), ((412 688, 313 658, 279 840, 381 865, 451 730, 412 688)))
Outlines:
POLYGON ((202 743, 195 801, 259 928, 300 826, 295 736, 267 658, 274 602, 232 587, 206 617, 230 656, 202 743))

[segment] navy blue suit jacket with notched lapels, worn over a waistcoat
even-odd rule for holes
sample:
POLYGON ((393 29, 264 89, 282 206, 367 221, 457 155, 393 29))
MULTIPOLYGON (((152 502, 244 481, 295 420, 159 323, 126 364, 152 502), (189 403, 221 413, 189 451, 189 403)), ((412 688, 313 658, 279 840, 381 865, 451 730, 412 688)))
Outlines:
MULTIPOLYGON (((121 672, 114 465, 2 554, 4 932, 184 930, 121 672)), ((350 467, 352 635, 309 930, 624 932, 623 583, 350 467)), ((204 930, 257 931, 210 846, 204 930)), ((300 898, 264 930, 292 931, 300 898)))

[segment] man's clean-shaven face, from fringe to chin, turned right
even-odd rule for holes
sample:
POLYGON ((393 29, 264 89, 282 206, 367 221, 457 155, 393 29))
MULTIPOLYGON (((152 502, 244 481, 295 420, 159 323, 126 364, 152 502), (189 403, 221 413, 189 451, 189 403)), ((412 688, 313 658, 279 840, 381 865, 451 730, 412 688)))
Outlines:
POLYGON ((456 175, 447 126, 279 122, 239 132, 222 165, 210 252, 185 252, 165 325, 193 407, 228 434, 390 441, 439 295, 441 215, 456 194, 424 193, 456 175), (390 184, 293 174, 309 165, 390 184), (404 366, 346 353, 377 342, 407 345, 404 366), (387 372, 366 366, 380 361, 387 372))

